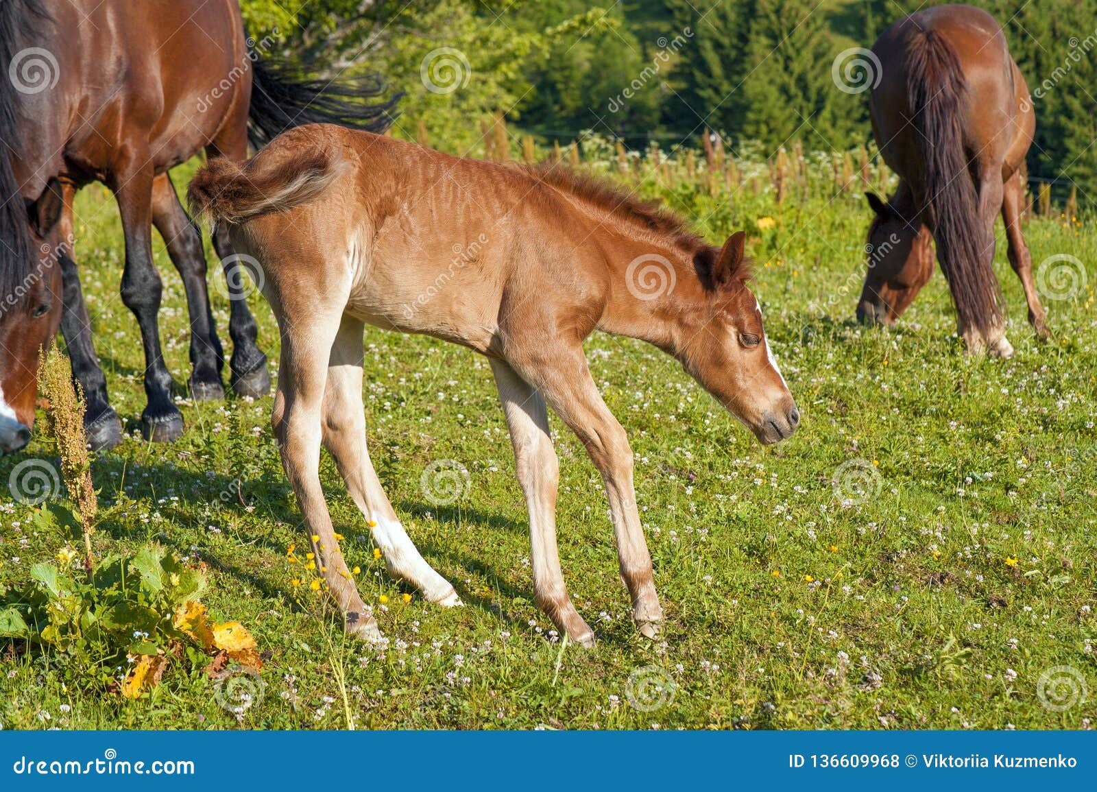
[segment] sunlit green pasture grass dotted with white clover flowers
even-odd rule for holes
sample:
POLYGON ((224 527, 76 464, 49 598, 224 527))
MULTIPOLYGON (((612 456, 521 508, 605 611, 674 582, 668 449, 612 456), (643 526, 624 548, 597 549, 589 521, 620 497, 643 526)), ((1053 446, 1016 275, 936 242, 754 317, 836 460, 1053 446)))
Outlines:
MULTIPOLYGON (((105 192, 86 190, 77 260, 112 399, 131 431, 93 462, 95 552, 157 543, 202 565, 203 601, 246 625, 269 657, 261 686, 244 680, 250 705, 233 712, 200 665, 174 661, 149 693, 127 700, 81 682, 92 658, 0 646, 2 727, 1089 727, 1094 216, 1026 226, 1038 265, 1060 253, 1087 262, 1085 284, 1044 279, 1047 291, 1066 296, 1044 297, 1055 333, 1045 344, 1025 320, 998 223, 995 267, 1017 349, 1003 362, 962 353, 939 272, 894 329, 853 321, 870 219, 857 190, 817 188, 778 206, 768 186, 712 196, 686 180, 657 182, 641 192, 686 213, 710 240, 747 229, 766 330, 803 421, 791 440, 761 448, 658 350, 590 339, 596 381, 635 452, 668 619, 657 642, 633 629, 601 479, 553 419, 561 555, 598 633, 591 650, 565 645, 533 604, 527 513, 486 360, 376 329, 366 335, 364 385, 374 464, 411 538, 465 604, 440 609, 387 577, 325 456, 336 530, 388 644, 344 640, 287 556, 307 538, 271 437, 270 397, 182 400, 179 442, 140 441, 144 362, 118 297, 121 226, 105 192), (459 497, 442 502, 451 485, 459 497)), ((156 242, 161 332, 182 393, 186 307, 156 242)), ((224 279, 210 281, 228 348, 224 279)), ((251 302, 273 369, 276 328, 262 298, 251 302)), ((2 584, 25 581, 33 563, 70 541, 36 529, 32 508, 7 491, 18 463, 56 453, 38 435, 0 460, 2 584)))

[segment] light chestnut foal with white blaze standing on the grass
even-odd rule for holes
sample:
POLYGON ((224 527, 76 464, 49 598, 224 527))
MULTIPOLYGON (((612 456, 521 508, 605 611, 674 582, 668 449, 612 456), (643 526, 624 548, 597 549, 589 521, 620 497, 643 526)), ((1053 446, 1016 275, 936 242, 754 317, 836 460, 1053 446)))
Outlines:
POLYGON ((246 168, 211 161, 189 196, 260 262, 282 337, 274 433, 324 580, 361 637, 376 638, 377 625, 331 528, 321 443, 389 572, 430 601, 460 602, 408 539, 370 462, 365 323, 490 360, 530 512, 536 601, 580 644, 593 633, 561 572, 546 403, 606 482, 636 625, 654 636, 663 619, 632 451, 590 376, 584 339, 601 329, 672 354, 765 443, 800 421, 746 285, 742 231, 713 248, 678 219, 563 169, 459 159, 330 125, 281 135, 246 168))

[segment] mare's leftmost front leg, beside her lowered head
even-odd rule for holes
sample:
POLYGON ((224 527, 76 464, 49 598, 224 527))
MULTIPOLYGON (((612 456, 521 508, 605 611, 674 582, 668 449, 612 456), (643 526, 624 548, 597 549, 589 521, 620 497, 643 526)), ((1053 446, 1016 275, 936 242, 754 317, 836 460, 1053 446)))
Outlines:
POLYGON ((91 318, 80 288, 72 228, 72 200, 76 189, 65 184, 65 212, 61 214, 61 250, 58 260, 64 283, 65 308, 61 312, 61 335, 72 363, 72 381, 83 392, 83 426, 92 451, 113 449, 122 442, 122 421, 106 396, 106 377, 91 340, 91 318))

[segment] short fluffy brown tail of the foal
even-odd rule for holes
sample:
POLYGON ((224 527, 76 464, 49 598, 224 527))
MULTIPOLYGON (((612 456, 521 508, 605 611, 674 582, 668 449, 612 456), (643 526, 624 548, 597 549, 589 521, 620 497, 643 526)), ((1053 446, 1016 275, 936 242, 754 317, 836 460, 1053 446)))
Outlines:
POLYGON ((191 213, 208 217, 214 224, 244 223, 312 201, 341 171, 332 154, 323 147, 310 148, 274 166, 267 166, 268 161, 265 157, 256 157, 240 167, 227 157, 211 159, 186 190, 191 213))

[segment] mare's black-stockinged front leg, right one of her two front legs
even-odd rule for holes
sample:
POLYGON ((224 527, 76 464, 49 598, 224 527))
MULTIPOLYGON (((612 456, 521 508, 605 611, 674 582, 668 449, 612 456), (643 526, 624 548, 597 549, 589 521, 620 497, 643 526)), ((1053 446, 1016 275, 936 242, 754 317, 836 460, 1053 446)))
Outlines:
POLYGON ((124 147, 115 165, 112 188, 126 238, 122 271, 122 302, 140 327, 145 348, 145 396, 142 432, 154 442, 176 440, 183 433, 183 417, 171 401, 172 382, 160 350, 157 315, 163 291, 152 263, 152 160, 147 144, 124 147))

